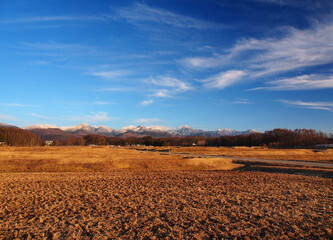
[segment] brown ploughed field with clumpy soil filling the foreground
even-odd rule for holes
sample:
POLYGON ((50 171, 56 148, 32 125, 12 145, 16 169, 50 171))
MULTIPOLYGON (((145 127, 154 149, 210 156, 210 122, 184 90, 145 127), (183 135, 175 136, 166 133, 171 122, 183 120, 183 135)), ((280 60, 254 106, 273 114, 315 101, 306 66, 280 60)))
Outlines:
POLYGON ((1 239, 332 239, 332 206, 332 179, 286 174, 0 174, 1 239))

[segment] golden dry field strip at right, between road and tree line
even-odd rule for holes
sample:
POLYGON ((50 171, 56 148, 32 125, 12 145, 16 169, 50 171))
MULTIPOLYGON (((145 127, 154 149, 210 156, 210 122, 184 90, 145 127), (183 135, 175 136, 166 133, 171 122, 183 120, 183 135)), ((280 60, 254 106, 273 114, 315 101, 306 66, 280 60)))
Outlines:
POLYGON ((333 149, 314 151, 312 149, 264 149, 259 147, 172 147, 171 152, 333 163, 333 149))

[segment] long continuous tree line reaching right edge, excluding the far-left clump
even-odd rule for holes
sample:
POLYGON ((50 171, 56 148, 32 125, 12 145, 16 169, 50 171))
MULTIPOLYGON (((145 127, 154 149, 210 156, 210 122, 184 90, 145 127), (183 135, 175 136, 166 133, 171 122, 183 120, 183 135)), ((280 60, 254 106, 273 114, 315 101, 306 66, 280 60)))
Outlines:
POLYGON ((332 136, 312 129, 274 129, 264 133, 221 137, 164 137, 119 138, 86 135, 68 138, 63 145, 146 145, 146 146, 267 146, 270 148, 311 148, 317 144, 333 143, 332 136))

